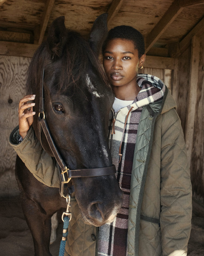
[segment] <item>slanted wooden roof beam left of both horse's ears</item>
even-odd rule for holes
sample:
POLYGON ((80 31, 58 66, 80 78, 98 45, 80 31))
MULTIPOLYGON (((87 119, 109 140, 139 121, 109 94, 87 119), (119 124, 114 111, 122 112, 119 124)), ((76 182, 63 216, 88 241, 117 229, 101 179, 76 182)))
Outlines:
POLYGON ((40 25, 40 34, 39 34, 38 44, 41 44, 43 41, 43 38, 45 35, 45 30, 47 28, 47 24, 48 24, 48 21, 50 19, 50 15, 52 12, 52 7, 54 5, 54 1, 55 0, 47 0, 47 2, 46 2, 45 11, 43 13, 42 22, 40 25))

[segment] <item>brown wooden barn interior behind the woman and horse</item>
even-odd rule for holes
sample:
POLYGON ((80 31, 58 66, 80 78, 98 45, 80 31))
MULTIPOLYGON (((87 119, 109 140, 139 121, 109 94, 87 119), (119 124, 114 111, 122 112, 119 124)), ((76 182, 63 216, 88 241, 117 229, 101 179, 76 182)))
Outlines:
MULTIPOLYGON (((204 0, 0 0, 0 248, 4 256, 34 255, 20 209, 15 178, 16 153, 8 137, 18 124, 18 103, 26 72, 51 22, 88 38, 94 20, 108 13, 108 29, 130 25, 145 38, 143 73, 164 81, 181 119, 193 189, 188 255, 204 255, 204 0), (17 237, 16 242, 11 239, 17 237)), ((61 230, 58 232, 61 236, 61 230)), ((58 255, 55 242, 52 255, 58 255)))

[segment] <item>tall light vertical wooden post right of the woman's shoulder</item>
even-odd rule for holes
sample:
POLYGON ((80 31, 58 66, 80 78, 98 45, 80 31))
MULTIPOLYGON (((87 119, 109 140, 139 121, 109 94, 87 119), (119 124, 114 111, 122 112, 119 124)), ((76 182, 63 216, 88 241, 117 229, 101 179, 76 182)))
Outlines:
POLYGON ((196 98, 198 84, 198 69, 200 56, 200 38, 193 36, 191 44, 191 60, 190 60, 190 79, 188 88, 188 109, 186 116, 185 140, 188 160, 191 162, 191 154, 193 148, 194 120, 196 113, 196 98))

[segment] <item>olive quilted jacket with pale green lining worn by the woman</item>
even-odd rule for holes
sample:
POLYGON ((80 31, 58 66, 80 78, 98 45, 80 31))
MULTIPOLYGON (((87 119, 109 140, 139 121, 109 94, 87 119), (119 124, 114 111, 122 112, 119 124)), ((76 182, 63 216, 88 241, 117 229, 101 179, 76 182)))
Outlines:
MULTIPOLYGON (((192 190, 181 121, 175 108, 166 88, 163 100, 144 106, 141 113, 131 177, 128 255, 187 254, 192 190)), ((16 127, 10 144, 27 168, 42 183, 58 187, 54 159, 42 150, 32 127, 20 144, 18 137, 16 127)), ((74 197, 70 211, 73 218, 65 255, 97 255, 97 228, 78 218, 74 197)))

